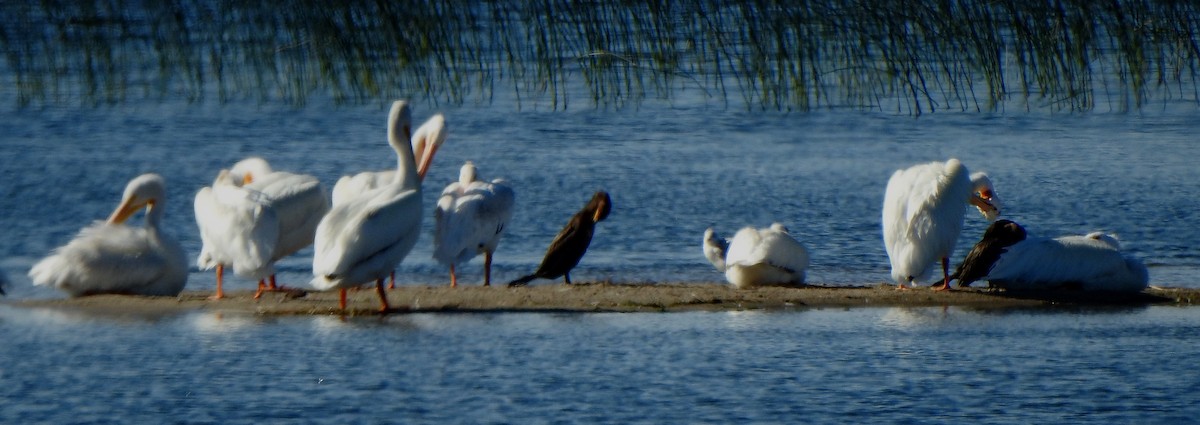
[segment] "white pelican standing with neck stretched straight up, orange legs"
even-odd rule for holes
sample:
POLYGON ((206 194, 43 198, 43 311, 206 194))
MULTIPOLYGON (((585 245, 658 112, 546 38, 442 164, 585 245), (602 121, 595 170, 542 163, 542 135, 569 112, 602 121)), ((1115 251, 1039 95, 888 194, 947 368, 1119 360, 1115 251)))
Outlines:
POLYGON ((388 143, 396 151, 396 178, 388 185, 336 204, 317 227, 312 286, 338 288, 346 310, 346 289, 376 281, 380 311, 388 311, 383 280, 408 256, 421 231, 421 181, 413 149, 403 138, 408 118, 402 101, 391 104, 388 143))

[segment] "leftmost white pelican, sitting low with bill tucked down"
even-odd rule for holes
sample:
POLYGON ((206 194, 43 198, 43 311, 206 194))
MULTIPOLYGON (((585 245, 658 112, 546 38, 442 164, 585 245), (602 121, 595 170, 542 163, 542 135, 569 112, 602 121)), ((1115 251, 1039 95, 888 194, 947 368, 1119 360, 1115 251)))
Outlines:
POLYGON ((108 217, 79 231, 71 243, 29 270, 34 285, 92 294, 178 295, 187 283, 184 249, 161 229, 167 186, 158 174, 143 174, 125 187, 108 217), (145 208, 145 226, 125 225, 145 208))

